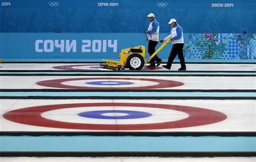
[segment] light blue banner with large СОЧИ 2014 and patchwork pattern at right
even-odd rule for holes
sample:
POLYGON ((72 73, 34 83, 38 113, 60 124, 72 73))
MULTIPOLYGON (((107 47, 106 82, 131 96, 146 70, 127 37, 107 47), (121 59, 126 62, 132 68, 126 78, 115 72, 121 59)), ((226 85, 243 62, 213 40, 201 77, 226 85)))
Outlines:
MULTIPOLYGON (((160 38, 166 35, 161 33, 160 38)), ((123 48, 142 45, 147 49, 144 33, 0 33, 0 37, 0 58, 4 61, 98 62, 119 60, 118 53, 123 48)), ((184 33, 184 40, 187 62, 254 62, 256 59, 256 34, 184 33)), ((171 47, 172 43, 166 45, 158 56, 167 61, 171 47)))

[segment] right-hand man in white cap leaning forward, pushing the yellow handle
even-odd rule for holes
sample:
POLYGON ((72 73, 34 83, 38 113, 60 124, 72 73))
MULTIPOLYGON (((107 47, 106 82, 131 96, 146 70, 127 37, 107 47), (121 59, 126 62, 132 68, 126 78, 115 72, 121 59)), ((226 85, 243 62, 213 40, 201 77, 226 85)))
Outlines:
POLYGON ((165 37, 164 39, 161 39, 160 42, 163 43, 168 38, 170 38, 172 40, 173 46, 168 58, 168 62, 166 65, 163 65, 163 67, 170 70, 172 67, 172 62, 178 54, 180 65, 181 65, 178 71, 186 71, 186 64, 183 56, 183 46, 184 46, 183 29, 181 26, 177 24, 177 21, 174 18, 172 18, 168 24, 170 24, 170 26, 172 27, 172 30, 168 33, 168 36, 165 37))

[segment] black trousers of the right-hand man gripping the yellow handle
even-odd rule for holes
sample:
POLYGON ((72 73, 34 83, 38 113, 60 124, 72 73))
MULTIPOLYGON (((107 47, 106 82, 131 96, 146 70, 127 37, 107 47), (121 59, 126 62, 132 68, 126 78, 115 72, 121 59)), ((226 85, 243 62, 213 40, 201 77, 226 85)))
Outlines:
POLYGON ((183 43, 173 44, 172 51, 169 55, 168 62, 167 62, 168 66, 170 66, 170 67, 172 66, 172 62, 178 54, 181 67, 186 67, 185 59, 184 59, 184 56, 183 56, 183 46, 184 46, 183 43))

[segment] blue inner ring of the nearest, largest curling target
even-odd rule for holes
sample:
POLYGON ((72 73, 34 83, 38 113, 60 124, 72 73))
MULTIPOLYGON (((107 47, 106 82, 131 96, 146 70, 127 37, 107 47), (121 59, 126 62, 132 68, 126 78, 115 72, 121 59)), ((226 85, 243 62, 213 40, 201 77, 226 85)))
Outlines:
POLYGON ((82 117, 96 118, 96 119, 136 119, 152 116, 149 112, 130 111, 130 110, 99 110, 99 111, 86 111, 78 114, 82 117), (125 116, 105 116, 105 113, 125 113, 125 116))

